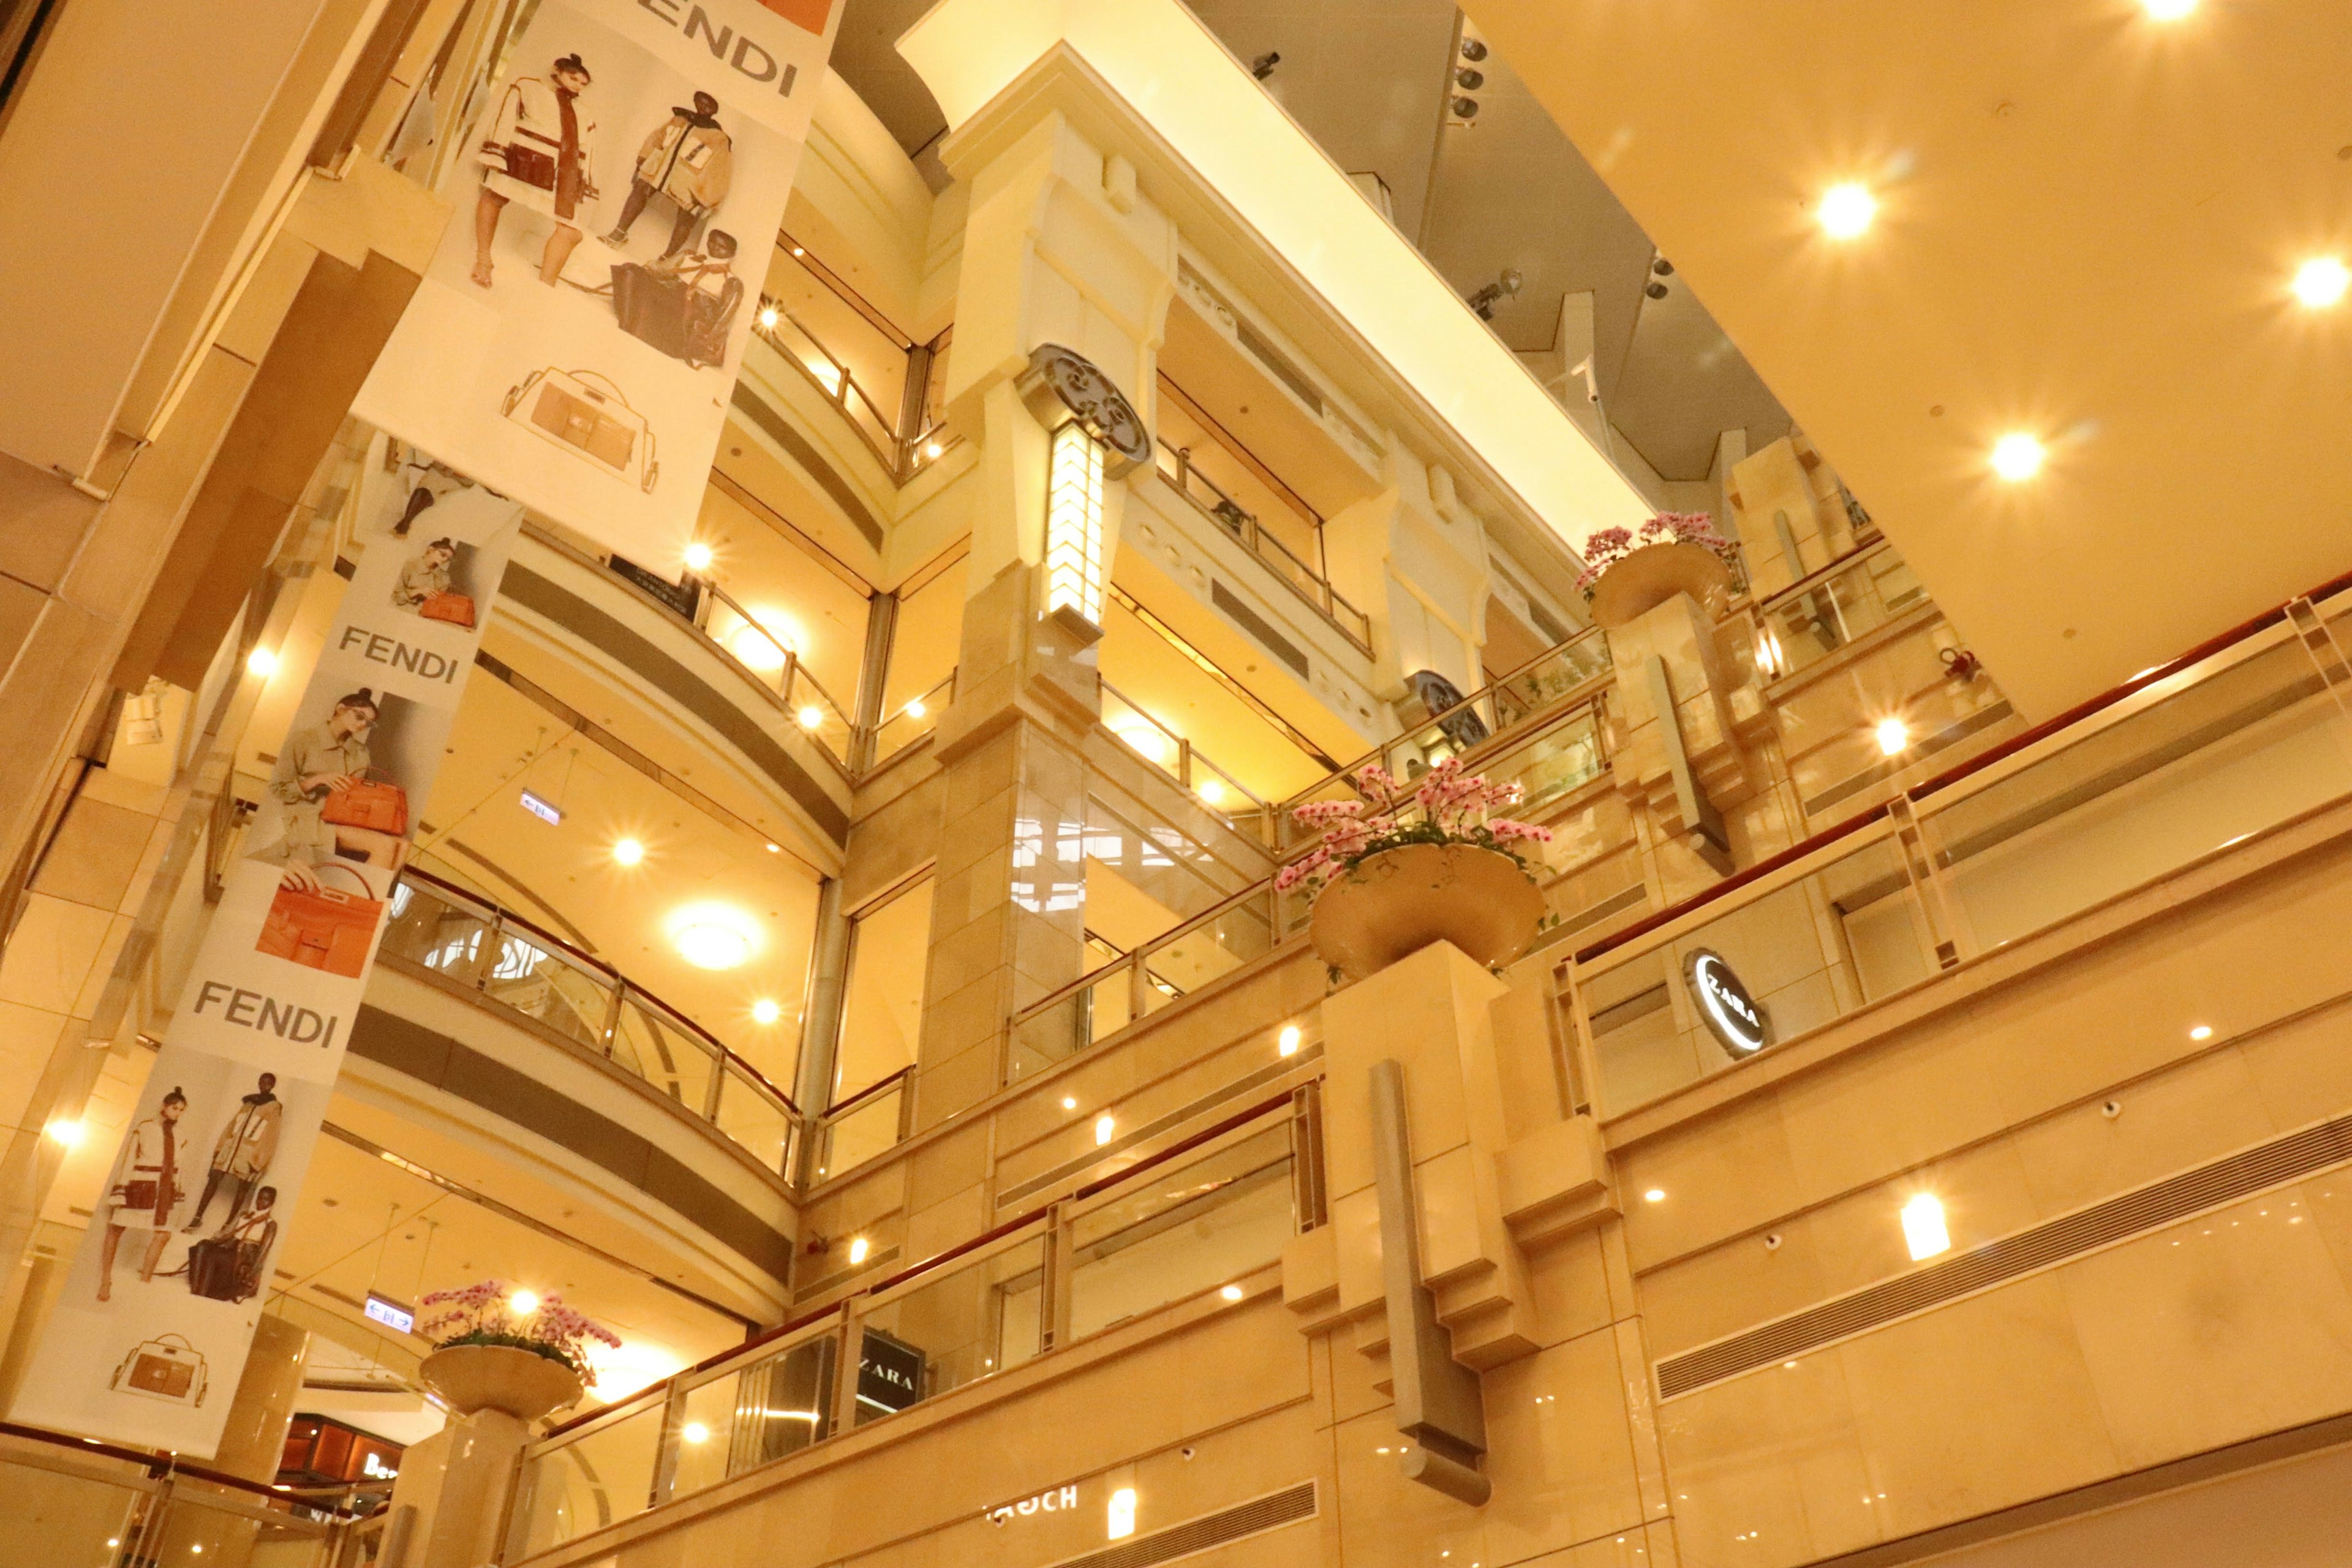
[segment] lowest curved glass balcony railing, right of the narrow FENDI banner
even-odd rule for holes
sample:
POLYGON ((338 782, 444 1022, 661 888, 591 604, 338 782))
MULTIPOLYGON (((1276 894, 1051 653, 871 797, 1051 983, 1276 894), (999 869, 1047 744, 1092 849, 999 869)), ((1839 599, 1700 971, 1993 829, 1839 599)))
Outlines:
POLYGON ((553 1030, 642 1079, 764 1168, 793 1175, 800 1107, 788 1093, 612 964, 513 910, 409 867, 393 886, 381 952, 553 1030))

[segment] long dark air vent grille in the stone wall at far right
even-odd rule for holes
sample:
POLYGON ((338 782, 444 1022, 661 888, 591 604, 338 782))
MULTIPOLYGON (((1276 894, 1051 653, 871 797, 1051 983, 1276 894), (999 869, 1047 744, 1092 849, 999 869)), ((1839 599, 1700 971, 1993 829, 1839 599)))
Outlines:
POLYGON ((1973 1291, 2006 1284, 2034 1269, 2079 1258, 2089 1251, 2136 1237, 2159 1225, 2173 1225, 2223 1204, 2253 1197, 2267 1187, 2300 1180, 2314 1171, 2352 1159, 2352 1117, 2336 1117, 2300 1133, 2274 1138, 2209 1166, 2183 1171, 2161 1182, 2093 1204, 2013 1237, 1987 1241, 1976 1251, 1912 1269, 1900 1279, 1856 1291, 1832 1302, 1795 1312, 1748 1333, 1700 1345, 1658 1361, 1658 1396, 1675 1399, 1750 1373, 1773 1361, 1788 1361, 1832 1340, 1879 1328, 1929 1307, 1959 1300, 1973 1291))

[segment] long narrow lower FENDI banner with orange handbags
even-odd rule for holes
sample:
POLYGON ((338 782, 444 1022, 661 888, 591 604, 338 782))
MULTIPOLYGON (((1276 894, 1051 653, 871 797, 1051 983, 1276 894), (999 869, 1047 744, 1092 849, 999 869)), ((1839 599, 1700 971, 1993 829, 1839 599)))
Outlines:
POLYGON ((414 458, 132 1110, 14 1420, 209 1458, 522 508, 414 458))

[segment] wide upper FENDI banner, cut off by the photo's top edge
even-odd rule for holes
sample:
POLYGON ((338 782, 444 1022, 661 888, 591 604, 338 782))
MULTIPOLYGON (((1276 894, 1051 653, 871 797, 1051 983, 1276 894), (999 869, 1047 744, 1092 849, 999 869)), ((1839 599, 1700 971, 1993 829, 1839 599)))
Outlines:
POLYGON ((833 0, 541 0, 353 414, 682 569, 833 0))

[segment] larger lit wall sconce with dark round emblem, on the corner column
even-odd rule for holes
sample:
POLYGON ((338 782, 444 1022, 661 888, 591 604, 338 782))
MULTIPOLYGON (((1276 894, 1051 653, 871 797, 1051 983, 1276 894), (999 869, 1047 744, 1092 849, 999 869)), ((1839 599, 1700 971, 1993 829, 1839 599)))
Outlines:
POLYGON ((1110 576, 1105 494, 1152 461, 1134 404, 1094 362, 1040 343, 1021 374, 1021 400, 1051 433, 1044 501, 1044 614, 1084 642, 1103 635, 1110 576))

